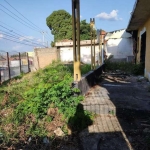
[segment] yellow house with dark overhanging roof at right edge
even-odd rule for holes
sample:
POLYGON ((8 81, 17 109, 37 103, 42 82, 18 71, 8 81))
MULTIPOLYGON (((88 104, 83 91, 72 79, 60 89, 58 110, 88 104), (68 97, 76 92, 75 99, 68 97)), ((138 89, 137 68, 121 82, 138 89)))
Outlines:
POLYGON ((136 0, 127 27, 134 38, 136 63, 142 63, 144 75, 150 80, 150 1, 136 0))

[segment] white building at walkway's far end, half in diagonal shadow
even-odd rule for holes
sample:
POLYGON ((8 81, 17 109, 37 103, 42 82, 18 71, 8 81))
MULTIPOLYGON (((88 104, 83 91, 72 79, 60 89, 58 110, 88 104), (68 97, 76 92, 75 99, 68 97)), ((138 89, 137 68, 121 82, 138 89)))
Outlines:
POLYGON ((104 37, 104 49, 111 61, 133 62, 133 39, 125 29, 107 32, 104 37))

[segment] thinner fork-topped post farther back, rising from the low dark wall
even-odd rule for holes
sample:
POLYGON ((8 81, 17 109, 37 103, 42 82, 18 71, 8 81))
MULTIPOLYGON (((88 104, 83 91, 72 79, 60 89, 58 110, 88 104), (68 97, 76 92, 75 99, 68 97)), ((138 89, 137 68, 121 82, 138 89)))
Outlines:
POLYGON ((91 70, 95 69, 95 19, 90 18, 91 27, 91 70))

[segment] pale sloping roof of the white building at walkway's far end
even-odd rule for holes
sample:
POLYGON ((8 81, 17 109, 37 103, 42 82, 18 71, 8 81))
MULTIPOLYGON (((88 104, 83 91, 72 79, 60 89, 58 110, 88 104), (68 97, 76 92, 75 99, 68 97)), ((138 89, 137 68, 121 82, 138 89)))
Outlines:
POLYGON ((112 32, 108 32, 105 36, 105 40, 108 39, 120 39, 120 38, 130 38, 132 35, 130 33, 127 33, 125 29, 121 30, 115 30, 112 32))

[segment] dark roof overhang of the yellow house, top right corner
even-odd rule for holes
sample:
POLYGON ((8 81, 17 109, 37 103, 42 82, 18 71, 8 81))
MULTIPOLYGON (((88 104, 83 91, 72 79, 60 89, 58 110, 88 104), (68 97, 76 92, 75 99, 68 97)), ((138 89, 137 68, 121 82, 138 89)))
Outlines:
POLYGON ((136 0, 126 31, 138 30, 150 17, 150 0, 136 0))

